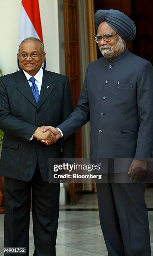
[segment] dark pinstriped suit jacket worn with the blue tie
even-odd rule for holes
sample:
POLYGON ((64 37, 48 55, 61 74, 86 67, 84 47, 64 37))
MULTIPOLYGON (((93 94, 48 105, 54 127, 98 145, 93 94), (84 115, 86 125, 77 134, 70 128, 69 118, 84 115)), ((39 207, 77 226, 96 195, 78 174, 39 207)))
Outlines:
POLYGON ((69 79, 44 70, 37 106, 22 70, 0 77, 0 129, 5 131, 0 159, 0 175, 29 181, 36 163, 44 181, 48 180, 49 158, 74 157, 74 138, 46 146, 35 138, 37 127, 57 126, 73 110, 69 79))

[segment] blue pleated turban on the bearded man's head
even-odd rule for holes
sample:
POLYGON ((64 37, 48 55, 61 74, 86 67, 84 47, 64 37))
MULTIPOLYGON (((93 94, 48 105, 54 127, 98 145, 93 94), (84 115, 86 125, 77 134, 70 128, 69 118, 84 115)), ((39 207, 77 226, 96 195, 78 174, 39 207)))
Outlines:
POLYGON ((132 42, 136 36, 136 26, 126 14, 119 10, 98 10, 94 15, 96 30, 106 20, 108 25, 123 38, 126 43, 132 42))

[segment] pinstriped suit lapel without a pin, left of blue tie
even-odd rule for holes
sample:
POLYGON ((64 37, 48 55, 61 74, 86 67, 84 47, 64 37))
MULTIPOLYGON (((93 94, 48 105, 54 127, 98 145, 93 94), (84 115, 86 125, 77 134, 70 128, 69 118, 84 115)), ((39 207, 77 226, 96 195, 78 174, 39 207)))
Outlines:
POLYGON ((27 98, 27 100, 29 100, 32 103, 32 105, 34 105, 37 108, 37 104, 33 96, 32 90, 22 70, 17 72, 16 83, 17 89, 27 98))

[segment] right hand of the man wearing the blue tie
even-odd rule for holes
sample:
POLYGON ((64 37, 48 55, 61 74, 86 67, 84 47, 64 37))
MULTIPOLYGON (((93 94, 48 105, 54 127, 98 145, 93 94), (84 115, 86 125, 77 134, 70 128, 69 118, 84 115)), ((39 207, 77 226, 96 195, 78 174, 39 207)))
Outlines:
POLYGON ((45 126, 38 127, 37 130, 34 133, 34 137, 37 138, 38 141, 46 141, 48 143, 47 145, 52 144, 53 142, 56 142, 56 138, 54 133, 47 129, 45 132, 42 132, 44 130, 45 126))

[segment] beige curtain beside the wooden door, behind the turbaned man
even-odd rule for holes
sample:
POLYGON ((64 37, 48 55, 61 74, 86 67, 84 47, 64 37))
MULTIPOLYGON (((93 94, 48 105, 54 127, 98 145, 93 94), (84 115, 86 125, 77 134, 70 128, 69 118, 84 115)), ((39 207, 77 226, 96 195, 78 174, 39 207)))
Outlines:
MULTIPOLYGON (((93 0, 78 0, 79 17, 79 58, 80 58, 80 86, 82 87, 89 62, 97 59, 96 44, 94 42, 94 3, 93 0)), ((89 158, 90 151, 90 123, 81 128, 82 157, 89 158)), ((95 191, 94 180, 83 184, 84 191, 95 191)))

